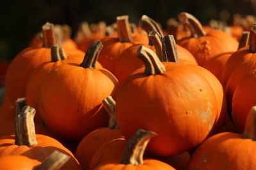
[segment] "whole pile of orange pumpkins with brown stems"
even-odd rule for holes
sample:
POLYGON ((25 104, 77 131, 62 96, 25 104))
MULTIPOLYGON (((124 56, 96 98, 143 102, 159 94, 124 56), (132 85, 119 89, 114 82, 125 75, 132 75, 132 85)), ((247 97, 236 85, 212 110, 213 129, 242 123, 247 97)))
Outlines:
POLYGON ((256 169, 256 23, 177 18, 44 24, 6 73, 0 169, 256 169))

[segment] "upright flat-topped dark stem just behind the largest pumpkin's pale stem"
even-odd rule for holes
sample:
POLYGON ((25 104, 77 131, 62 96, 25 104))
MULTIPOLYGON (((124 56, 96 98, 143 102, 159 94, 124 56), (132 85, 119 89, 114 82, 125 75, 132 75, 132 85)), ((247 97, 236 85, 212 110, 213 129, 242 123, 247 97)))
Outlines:
POLYGON ((179 62, 177 53, 177 45, 172 35, 163 36, 162 38, 163 48, 163 61, 164 62, 179 62))

